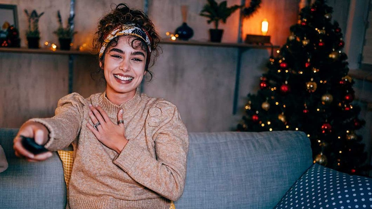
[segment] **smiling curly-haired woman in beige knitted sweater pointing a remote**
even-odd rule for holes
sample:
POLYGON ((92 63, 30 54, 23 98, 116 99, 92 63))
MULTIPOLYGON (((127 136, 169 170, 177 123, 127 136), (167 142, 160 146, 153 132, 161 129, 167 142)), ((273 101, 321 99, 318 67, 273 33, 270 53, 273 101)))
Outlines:
POLYGON ((137 90, 150 73, 158 42, 146 14, 119 4, 100 20, 94 40, 106 91, 89 98, 69 94, 58 101, 54 117, 33 118, 20 128, 15 153, 29 161, 73 144, 71 209, 168 209, 181 196, 189 145, 185 125, 175 105, 137 90), (49 152, 29 153, 20 135, 49 152))

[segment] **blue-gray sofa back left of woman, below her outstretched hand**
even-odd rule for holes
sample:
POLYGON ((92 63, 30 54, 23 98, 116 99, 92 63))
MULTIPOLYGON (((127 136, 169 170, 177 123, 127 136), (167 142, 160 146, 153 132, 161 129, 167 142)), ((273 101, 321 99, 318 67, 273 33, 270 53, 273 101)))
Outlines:
POLYGON ((38 163, 30 163, 15 156, 13 138, 18 129, 0 128, 0 145, 9 167, 0 173, 1 209, 64 209, 66 184, 62 162, 56 152, 38 163))

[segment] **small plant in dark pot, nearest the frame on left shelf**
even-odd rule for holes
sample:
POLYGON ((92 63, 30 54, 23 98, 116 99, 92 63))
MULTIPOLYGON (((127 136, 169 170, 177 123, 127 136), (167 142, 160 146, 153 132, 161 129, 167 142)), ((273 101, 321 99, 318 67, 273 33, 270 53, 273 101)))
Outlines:
POLYGON ((39 18, 44 12, 38 14, 36 10, 32 10, 31 14, 29 14, 27 9, 25 9, 25 13, 28 17, 28 30, 26 31, 28 48, 38 49, 40 40, 39 18))

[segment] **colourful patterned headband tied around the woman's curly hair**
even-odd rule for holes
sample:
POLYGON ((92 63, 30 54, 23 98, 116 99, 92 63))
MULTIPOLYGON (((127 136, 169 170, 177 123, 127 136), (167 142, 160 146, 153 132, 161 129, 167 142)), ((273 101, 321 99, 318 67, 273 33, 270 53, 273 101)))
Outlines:
POLYGON ((99 59, 101 59, 103 53, 106 50, 107 45, 109 45, 110 41, 117 37, 122 35, 132 35, 137 36, 144 40, 144 42, 147 45, 147 54, 148 59, 147 61, 150 61, 150 55, 151 55, 151 42, 148 36, 148 33, 143 31, 140 27, 135 25, 134 23, 128 23, 126 25, 120 25, 112 30, 108 35, 106 35, 105 40, 103 41, 103 44, 101 46, 101 49, 99 50, 99 59))

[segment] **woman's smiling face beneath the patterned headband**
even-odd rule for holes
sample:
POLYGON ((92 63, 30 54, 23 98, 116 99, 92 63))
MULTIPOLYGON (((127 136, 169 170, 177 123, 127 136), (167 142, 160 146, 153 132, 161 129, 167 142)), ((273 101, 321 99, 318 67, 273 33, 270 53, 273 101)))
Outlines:
MULTIPOLYGON (((109 46, 105 53, 103 71, 106 79, 106 93, 121 93, 134 96, 136 88, 145 75, 147 52, 142 50, 140 40, 134 36, 119 37, 116 46, 109 46)), ((100 62, 102 68, 102 62, 100 62)))

